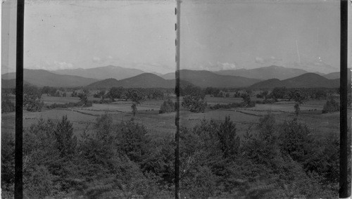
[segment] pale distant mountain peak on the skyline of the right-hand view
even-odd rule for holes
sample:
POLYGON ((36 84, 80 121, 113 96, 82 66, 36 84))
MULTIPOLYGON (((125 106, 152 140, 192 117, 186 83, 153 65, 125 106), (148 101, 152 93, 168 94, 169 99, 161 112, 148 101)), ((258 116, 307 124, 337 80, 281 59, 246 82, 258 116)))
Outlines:
POLYGON ((253 79, 288 79, 291 77, 296 77, 298 75, 303 75, 307 73, 306 70, 296 69, 296 68, 284 68, 282 66, 270 65, 263 68, 254 69, 238 69, 238 70, 219 70, 214 73, 218 75, 232 75, 239 77, 247 77, 253 79))

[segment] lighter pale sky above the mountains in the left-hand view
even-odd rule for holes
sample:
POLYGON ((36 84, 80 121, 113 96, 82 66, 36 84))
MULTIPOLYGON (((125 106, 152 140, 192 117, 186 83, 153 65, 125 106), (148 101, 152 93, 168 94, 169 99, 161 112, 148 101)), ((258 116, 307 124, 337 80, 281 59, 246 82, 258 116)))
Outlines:
MULTIPOLYGON (((26 1, 25 68, 175 70, 175 1, 26 1)), ((10 64, 14 68, 14 64, 10 64)))

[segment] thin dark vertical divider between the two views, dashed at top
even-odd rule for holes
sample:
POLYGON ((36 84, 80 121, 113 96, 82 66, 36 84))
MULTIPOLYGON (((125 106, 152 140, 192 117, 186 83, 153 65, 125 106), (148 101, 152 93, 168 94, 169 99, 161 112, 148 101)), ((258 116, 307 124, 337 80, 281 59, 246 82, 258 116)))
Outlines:
POLYGON ((177 15, 176 28, 176 134, 175 134, 175 198, 180 198, 180 8, 181 0, 177 0, 175 14, 177 15))

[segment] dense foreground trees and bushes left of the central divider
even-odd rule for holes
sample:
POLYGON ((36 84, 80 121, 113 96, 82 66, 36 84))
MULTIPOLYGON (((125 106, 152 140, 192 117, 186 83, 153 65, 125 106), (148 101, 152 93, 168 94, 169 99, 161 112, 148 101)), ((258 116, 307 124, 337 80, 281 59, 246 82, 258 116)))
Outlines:
MULTIPOLYGON (((173 142, 153 141, 133 120, 97 118, 80 136, 72 123, 40 120, 23 133, 23 183, 28 198, 170 198, 173 142)), ((1 140, 2 197, 13 193, 14 141, 1 140)))

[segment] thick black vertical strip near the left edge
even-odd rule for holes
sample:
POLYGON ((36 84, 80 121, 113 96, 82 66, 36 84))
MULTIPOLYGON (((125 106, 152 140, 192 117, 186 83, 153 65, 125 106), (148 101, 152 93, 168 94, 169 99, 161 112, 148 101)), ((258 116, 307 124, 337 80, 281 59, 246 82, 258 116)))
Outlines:
POLYGON ((15 198, 23 198, 23 23, 25 0, 17 1, 16 105, 15 105, 15 198))

